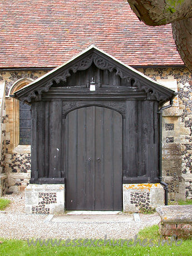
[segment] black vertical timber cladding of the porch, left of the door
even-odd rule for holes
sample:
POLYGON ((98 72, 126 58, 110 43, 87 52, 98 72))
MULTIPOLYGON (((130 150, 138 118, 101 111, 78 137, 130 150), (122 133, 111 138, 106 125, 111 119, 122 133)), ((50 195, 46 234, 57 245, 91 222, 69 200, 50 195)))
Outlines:
MULTIPOLYGON (((62 178, 62 101, 32 104, 32 179, 62 178), (35 171, 33 171, 35 170, 35 171)), ((56 181, 57 183, 59 180, 56 181)))

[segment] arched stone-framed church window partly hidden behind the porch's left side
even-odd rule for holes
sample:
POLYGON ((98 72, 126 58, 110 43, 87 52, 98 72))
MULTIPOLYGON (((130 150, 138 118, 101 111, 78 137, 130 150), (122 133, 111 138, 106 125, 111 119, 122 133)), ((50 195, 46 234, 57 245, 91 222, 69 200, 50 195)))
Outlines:
POLYGON ((10 95, 28 85, 33 80, 21 78, 13 83, 6 97, 6 113, 8 115, 7 133, 9 137, 8 150, 13 150, 18 145, 31 144, 31 106, 22 104, 10 95))

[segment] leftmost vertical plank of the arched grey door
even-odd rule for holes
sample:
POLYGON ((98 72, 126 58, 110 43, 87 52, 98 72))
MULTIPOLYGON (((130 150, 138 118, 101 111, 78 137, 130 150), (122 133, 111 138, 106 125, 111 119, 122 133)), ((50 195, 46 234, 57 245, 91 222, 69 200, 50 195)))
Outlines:
POLYGON ((68 115, 67 209, 76 209, 77 175, 77 110, 68 115))

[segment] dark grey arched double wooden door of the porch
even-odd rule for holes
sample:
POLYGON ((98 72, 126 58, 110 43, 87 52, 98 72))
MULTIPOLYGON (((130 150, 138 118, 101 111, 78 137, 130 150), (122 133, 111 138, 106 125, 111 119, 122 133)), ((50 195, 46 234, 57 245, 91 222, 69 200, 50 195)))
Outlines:
POLYGON ((67 210, 122 209, 122 116, 104 107, 66 117, 67 210))

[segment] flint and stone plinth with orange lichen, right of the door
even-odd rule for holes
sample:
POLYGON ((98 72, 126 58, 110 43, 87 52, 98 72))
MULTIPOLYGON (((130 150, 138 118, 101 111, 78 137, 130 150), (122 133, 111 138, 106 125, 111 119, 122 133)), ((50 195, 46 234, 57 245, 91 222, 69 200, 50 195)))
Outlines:
POLYGON ((164 189, 159 183, 123 184, 122 189, 124 213, 164 205, 164 189))

